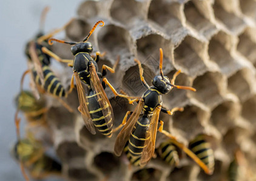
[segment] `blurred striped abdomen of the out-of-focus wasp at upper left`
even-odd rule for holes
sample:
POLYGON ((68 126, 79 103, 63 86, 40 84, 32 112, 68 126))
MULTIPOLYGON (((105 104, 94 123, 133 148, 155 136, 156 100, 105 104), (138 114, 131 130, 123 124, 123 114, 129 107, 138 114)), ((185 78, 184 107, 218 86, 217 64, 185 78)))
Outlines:
MULTIPOLYGON (((65 97, 66 92, 64 87, 62 86, 61 82, 59 81, 58 77, 56 77, 49 66, 42 65, 42 71, 44 73, 44 87, 43 89, 58 97, 65 97)), ((35 78, 36 84, 42 85, 41 80, 39 79, 39 75, 33 70, 33 77, 35 78)))

